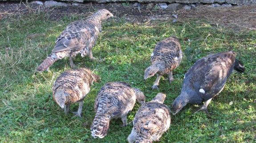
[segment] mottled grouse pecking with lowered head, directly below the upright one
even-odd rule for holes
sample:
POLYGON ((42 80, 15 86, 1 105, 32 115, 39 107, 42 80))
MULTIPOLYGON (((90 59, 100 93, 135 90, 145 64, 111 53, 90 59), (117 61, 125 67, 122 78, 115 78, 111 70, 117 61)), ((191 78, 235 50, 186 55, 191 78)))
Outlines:
POLYGON ((53 84, 53 100, 65 111, 69 112, 69 105, 78 102, 79 108, 76 116, 81 117, 83 99, 90 91, 93 81, 100 77, 86 68, 67 70, 56 79, 53 84))

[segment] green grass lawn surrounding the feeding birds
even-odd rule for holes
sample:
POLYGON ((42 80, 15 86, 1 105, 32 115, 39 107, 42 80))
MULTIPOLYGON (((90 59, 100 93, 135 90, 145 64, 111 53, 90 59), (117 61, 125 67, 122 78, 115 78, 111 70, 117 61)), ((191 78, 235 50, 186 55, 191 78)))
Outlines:
MULTIPOLYGON (((78 55, 78 67, 89 67, 102 78, 91 87, 85 98, 83 118, 64 115, 52 99, 54 80, 70 69, 65 58, 50 67, 51 72, 35 73, 38 64, 51 52, 57 36, 77 15, 58 21, 44 14, 24 15, 0 21, 0 142, 101 142, 124 143, 132 124, 120 128, 121 120, 110 123, 108 135, 93 139, 90 124, 94 118, 93 104, 98 90, 109 81, 125 81, 142 89, 146 100, 158 92, 167 94, 170 107, 180 93, 184 73, 192 64, 218 52, 234 50, 246 68, 246 73, 234 72, 223 91, 208 106, 211 118, 204 112, 193 114, 199 106, 187 105, 171 116, 171 127, 160 142, 256 142, 256 32, 234 34, 208 23, 171 23, 158 21, 150 25, 126 23, 111 19, 103 23, 103 32, 93 48, 93 55, 103 62, 90 62, 78 55), (44 34, 34 39, 30 34, 44 34), (146 82, 143 73, 150 65, 150 54, 160 40, 177 36, 185 54, 174 71, 175 80, 168 84, 164 78, 159 90, 151 90, 156 77, 146 82), (191 42, 188 42, 190 39, 191 42), (232 105, 229 105, 230 102, 232 105)), ((76 110, 77 104, 71 106, 76 110)), ((128 116, 131 122, 139 104, 128 116)))

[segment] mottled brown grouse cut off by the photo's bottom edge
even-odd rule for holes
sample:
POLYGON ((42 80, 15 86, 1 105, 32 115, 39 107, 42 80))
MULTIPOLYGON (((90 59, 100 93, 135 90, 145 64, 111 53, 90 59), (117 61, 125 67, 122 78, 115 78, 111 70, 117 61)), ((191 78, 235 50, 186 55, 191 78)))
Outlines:
POLYGON ((159 141, 171 124, 168 107, 163 104, 166 95, 158 93, 153 100, 143 104, 133 120, 133 129, 128 136, 129 143, 152 143, 159 141))

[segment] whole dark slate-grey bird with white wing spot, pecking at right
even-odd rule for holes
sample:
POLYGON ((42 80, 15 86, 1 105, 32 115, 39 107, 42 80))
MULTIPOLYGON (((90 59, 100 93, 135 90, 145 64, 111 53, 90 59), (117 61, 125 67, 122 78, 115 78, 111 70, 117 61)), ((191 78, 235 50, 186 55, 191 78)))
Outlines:
POLYGON ((173 114, 177 114, 187 104, 204 102, 198 111, 204 110, 209 115, 208 104, 222 91, 233 69, 239 72, 245 70, 233 51, 199 59, 184 76, 181 93, 172 103, 173 114))

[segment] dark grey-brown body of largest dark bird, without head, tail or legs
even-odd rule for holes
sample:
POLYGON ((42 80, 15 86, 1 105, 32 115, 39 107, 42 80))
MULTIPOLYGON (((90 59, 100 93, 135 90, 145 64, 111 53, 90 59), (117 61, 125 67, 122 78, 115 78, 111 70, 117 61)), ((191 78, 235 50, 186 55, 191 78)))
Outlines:
POLYGON ((182 90, 193 90, 203 100, 219 93, 232 73, 236 55, 226 52, 199 59, 185 74, 182 90))

